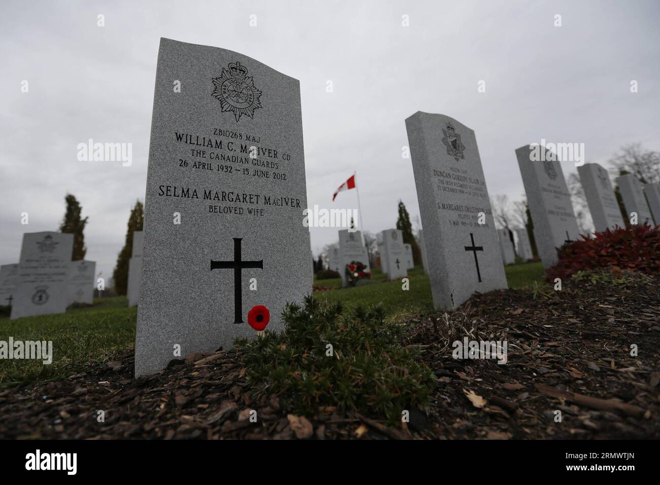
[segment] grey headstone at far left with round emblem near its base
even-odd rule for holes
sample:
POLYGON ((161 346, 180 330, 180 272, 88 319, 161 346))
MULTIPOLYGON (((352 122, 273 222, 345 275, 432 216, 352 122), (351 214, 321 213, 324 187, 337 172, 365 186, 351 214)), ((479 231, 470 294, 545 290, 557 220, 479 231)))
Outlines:
POLYGON ((11 318, 64 313, 69 304, 69 263, 73 234, 23 234, 11 318))

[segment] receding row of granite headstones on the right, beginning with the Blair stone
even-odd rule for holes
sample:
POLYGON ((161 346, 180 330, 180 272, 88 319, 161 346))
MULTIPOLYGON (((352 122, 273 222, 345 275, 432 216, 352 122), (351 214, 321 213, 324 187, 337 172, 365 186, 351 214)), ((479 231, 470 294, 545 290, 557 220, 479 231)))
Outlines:
MULTIPOLYGON (((515 230, 515 238, 508 229, 496 231, 474 131, 448 116, 422 112, 409 117, 406 126, 435 306, 454 309, 475 291, 507 288, 504 264, 516 255, 531 259, 531 245, 525 229, 515 230)), ((539 257, 548 268, 558 261, 558 249, 579 236, 568 185, 547 148, 525 145, 515 154, 539 257)), ((596 230, 625 227, 607 171, 585 164, 578 172, 596 230)), ((616 183, 638 224, 653 224, 653 214, 660 222, 658 185, 642 187, 632 174, 616 183)))

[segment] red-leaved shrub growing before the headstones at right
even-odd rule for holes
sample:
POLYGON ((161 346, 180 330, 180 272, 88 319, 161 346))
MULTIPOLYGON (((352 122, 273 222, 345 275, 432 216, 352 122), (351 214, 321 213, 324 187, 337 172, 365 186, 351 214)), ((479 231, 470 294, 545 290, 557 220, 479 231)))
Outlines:
POLYGON ((660 228, 630 226, 597 232, 593 238, 564 245, 559 262, 546 271, 546 279, 569 278, 578 271, 616 266, 641 271, 647 275, 660 273, 660 228))

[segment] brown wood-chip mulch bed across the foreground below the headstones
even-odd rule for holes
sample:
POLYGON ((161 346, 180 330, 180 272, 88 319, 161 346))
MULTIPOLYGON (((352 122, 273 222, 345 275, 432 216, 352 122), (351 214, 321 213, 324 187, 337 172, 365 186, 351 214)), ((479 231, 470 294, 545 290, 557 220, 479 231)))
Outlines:
POLYGON ((234 351, 191 354, 149 379, 133 379, 128 352, 68 379, 0 391, 0 437, 658 438, 659 295, 657 278, 549 298, 506 290, 420 317, 405 344, 420 347, 437 387, 433 404, 410 409, 397 428, 333 407, 294 416, 277 395, 252 401, 234 351), (507 340, 508 363, 452 358, 451 342, 465 335, 507 340))

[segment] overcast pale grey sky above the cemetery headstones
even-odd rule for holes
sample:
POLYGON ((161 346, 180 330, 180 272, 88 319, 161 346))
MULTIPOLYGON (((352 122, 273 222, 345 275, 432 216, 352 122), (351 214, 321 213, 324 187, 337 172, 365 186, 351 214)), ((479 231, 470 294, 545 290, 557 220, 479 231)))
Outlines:
MULTIPOLYGON (((87 259, 112 273, 145 196, 160 37, 300 79, 309 205, 355 207, 354 191, 331 197, 356 170, 364 227, 378 232, 398 199, 419 213, 401 156, 418 110, 474 129, 488 191, 512 199, 526 143, 585 143, 601 164, 626 143, 660 150, 659 21, 658 1, 3 1, 0 263, 18 261, 23 232, 57 230, 70 191, 89 216, 87 259), (132 143, 133 165, 79 162, 90 138, 132 143)), ((314 253, 336 238, 312 229, 314 253)))

